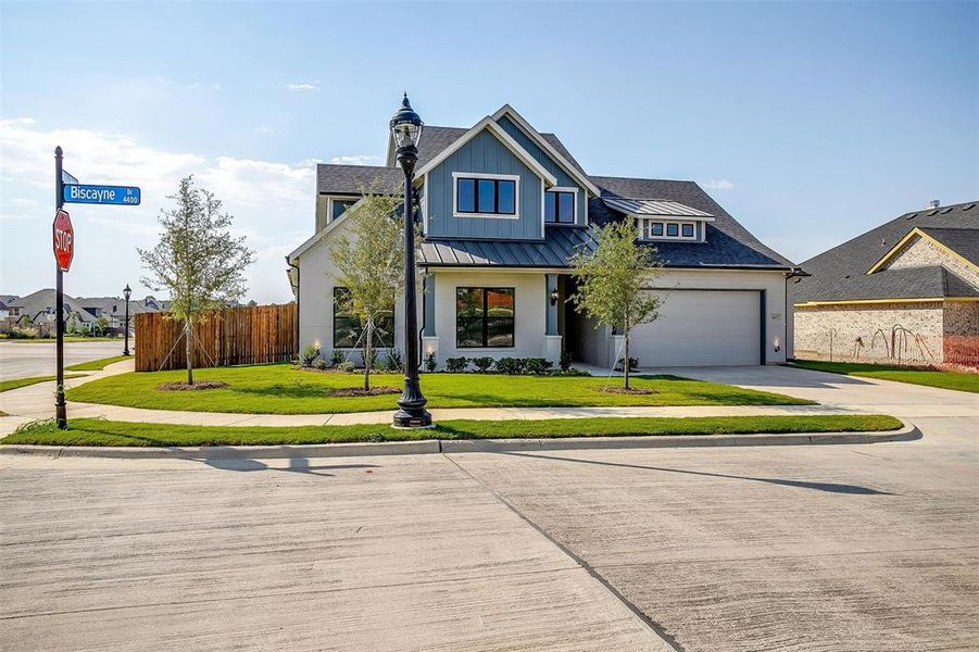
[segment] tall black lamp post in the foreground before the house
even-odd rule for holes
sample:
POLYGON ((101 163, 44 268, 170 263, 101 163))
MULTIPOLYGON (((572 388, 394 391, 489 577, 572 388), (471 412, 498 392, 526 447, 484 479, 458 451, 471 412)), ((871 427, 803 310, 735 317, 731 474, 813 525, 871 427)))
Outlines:
POLYGON ((418 384, 418 312, 415 305, 415 212, 412 208, 415 163, 418 162, 418 140, 422 118, 412 110, 407 93, 401 109, 391 118, 391 135, 398 147, 398 163, 404 171, 404 390, 398 399, 401 408, 394 413, 396 428, 427 428, 431 414, 425 410, 428 401, 418 384))

